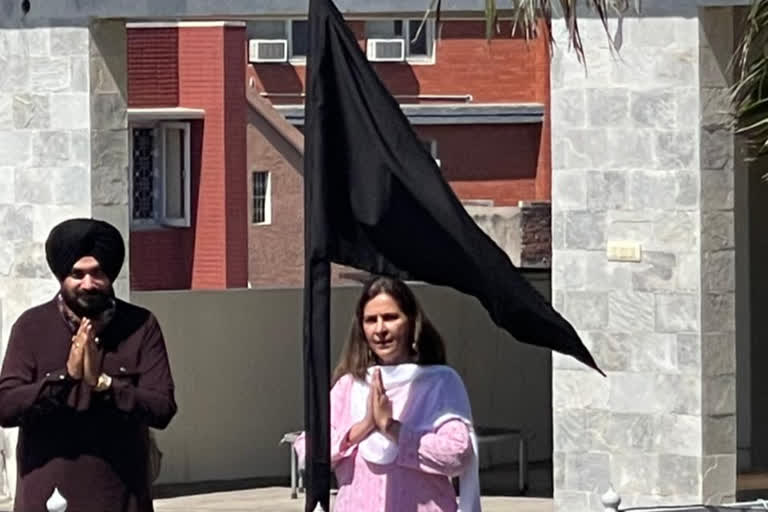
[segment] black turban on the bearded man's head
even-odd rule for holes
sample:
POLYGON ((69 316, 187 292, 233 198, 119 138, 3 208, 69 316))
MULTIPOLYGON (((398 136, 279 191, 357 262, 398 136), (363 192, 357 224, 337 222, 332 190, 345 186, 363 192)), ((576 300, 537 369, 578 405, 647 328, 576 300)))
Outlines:
POLYGON ((96 258, 114 282, 125 260, 125 245, 117 228, 101 220, 70 219, 51 230, 45 242, 45 257, 59 281, 85 256, 96 258))

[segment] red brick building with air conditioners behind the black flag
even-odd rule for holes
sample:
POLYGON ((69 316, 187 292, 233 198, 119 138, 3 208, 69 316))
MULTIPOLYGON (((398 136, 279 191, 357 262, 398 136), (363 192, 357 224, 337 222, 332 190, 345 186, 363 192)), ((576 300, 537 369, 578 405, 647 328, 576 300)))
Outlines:
MULTIPOLYGON (((502 22, 488 41, 482 20, 445 19, 440 38, 431 22, 419 31, 396 16, 349 25, 463 201, 549 200, 546 37, 513 37, 502 22)), ((128 34, 132 139, 153 112, 161 144, 186 123, 190 160, 186 223, 165 221, 162 207, 145 222, 132 151, 132 287, 300 286, 306 21, 133 24, 128 34)), ((173 190, 159 189, 162 206, 173 190)))

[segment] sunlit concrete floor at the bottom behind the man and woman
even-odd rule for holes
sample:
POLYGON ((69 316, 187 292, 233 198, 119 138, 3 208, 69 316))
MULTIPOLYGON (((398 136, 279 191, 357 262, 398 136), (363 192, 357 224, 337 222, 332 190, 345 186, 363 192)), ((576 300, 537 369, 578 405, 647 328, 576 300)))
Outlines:
MULTIPOLYGON (((290 498, 288 487, 265 487, 155 500, 157 512, 303 512, 303 495, 290 498)), ((484 497, 483 512, 552 512, 547 498, 484 497)))

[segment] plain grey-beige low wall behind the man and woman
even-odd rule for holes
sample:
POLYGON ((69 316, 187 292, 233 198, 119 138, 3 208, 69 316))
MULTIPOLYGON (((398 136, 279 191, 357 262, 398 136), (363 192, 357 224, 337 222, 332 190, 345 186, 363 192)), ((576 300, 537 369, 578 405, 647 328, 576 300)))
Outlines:
MULTIPOLYGON (((549 290, 549 278, 534 284, 549 290)), ((333 361, 360 288, 333 289, 333 361)), ((514 342, 476 300, 415 285, 443 334, 449 362, 465 379, 478 424, 535 434, 531 460, 552 454, 551 357, 514 342)), ((179 413, 158 432, 160 484, 269 479, 290 472, 278 441, 302 428, 302 290, 135 292, 165 333, 179 413)), ((492 452, 514 460, 514 449, 492 452)))

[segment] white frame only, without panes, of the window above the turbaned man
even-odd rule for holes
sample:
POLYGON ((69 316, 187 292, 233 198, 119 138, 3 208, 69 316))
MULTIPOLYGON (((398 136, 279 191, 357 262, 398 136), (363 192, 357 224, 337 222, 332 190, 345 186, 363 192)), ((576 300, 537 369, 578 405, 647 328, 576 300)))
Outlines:
POLYGON ((130 134, 129 145, 129 169, 130 169, 130 183, 129 183, 129 209, 131 215, 131 227, 132 228, 158 228, 158 227, 174 227, 174 228, 187 228, 192 225, 191 223, 191 164, 192 155, 190 151, 191 141, 191 124, 183 121, 139 121, 131 122, 128 126, 128 133, 130 134), (135 219, 133 217, 133 129, 134 128, 151 128, 154 136, 154 147, 152 149, 152 173, 153 173, 153 187, 152 187, 152 201, 153 208, 152 218, 147 219, 135 219), (166 215, 166 197, 165 197, 165 183, 166 183, 166 152, 165 148, 165 129, 174 128, 181 129, 184 132, 184 184, 182 193, 184 194, 184 216, 183 217, 169 217, 166 215))

